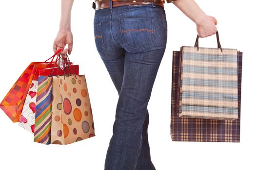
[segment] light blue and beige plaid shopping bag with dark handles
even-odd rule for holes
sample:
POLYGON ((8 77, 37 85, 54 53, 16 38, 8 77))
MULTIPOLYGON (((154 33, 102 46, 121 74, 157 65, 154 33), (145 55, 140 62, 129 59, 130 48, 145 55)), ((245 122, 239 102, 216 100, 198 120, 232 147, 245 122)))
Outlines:
POLYGON ((238 118, 237 49, 182 46, 177 104, 179 117, 238 118))

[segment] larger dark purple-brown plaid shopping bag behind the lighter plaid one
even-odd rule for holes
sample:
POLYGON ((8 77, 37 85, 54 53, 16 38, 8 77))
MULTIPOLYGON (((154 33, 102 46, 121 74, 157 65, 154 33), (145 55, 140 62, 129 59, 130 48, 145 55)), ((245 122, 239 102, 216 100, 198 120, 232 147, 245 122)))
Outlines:
POLYGON ((180 51, 173 51, 171 137, 173 141, 240 142, 242 52, 238 51, 238 119, 195 119, 178 115, 177 82, 180 51))

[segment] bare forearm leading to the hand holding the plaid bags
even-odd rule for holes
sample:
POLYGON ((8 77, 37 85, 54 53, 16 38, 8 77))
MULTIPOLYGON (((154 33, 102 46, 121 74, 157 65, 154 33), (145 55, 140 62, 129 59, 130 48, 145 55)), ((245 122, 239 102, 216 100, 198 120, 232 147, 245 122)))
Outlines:
POLYGON ((173 4, 196 24, 206 16, 194 0, 176 0, 173 4))

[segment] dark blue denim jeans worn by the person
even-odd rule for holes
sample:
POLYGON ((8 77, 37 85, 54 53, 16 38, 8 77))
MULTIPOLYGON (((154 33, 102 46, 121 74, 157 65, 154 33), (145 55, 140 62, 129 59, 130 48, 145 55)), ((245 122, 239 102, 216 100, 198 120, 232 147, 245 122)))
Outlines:
POLYGON ((164 8, 139 4, 96 10, 94 36, 119 96, 105 170, 156 170, 147 105, 166 48, 164 8))

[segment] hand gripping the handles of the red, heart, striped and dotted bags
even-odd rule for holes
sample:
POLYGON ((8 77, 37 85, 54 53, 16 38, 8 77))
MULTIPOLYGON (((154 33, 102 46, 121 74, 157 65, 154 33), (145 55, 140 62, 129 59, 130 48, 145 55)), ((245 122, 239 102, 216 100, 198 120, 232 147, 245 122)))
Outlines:
POLYGON ((53 43, 53 51, 56 52, 58 49, 64 49, 62 51, 63 54, 71 54, 73 48, 73 34, 71 30, 59 30, 54 43, 53 43), (68 49, 64 49, 68 44, 68 49))

